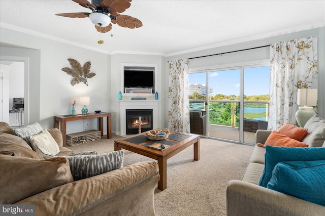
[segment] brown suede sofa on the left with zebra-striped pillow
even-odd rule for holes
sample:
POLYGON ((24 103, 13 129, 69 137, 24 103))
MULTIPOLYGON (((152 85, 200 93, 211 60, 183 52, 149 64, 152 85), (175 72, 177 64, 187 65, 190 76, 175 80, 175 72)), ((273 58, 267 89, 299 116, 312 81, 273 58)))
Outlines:
MULTIPOLYGON (((60 131, 48 131, 61 145, 60 131)), ((61 155, 72 153, 62 146, 60 150, 61 155)), ((73 181, 68 158, 44 159, 1 122, 0 167, 1 204, 35 204, 36 215, 155 214, 159 172, 153 161, 73 181)))

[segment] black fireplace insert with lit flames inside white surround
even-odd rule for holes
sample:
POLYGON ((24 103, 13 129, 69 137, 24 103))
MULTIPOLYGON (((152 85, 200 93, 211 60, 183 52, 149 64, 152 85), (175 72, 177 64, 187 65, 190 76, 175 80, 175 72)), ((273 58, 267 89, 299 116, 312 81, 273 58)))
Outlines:
POLYGON ((141 132, 150 131, 152 128, 152 109, 126 109, 126 134, 139 133, 139 117, 141 116, 141 132))

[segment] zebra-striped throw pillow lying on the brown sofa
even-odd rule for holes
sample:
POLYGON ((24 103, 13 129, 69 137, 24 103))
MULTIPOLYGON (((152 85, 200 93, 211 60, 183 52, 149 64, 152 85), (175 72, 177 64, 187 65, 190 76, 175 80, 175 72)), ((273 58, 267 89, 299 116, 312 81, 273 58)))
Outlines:
POLYGON ((63 157, 69 159, 73 179, 78 181, 123 167, 124 151, 63 157))

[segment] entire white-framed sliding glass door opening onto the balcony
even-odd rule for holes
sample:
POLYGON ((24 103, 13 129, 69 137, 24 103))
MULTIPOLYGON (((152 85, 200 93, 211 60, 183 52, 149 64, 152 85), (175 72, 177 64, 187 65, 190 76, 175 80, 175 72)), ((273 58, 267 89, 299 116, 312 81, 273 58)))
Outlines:
POLYGON ((268 65, 190 73, 190 110, 206 115, 206 136, 253 144, 267 128, 269 83, 268 65))

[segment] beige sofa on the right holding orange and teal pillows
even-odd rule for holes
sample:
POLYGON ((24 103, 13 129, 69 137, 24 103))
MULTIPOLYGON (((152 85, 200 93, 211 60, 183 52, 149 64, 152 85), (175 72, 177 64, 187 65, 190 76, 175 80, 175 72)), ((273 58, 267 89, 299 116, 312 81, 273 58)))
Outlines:
MULTIPOLYGON (((324 119, 315 115, 310 121, 309 125, 305 125, 308 134, 302 142, 309 144, 309 147, 325 147, 324 119)), ((258 130, 255 143, 265 144, 270 134, 271 131, 258 130)), ((325 206, 258 186, 265 165, 265 152, 264 147, 255 145, 242 180, 228 183, 227 215, 325 215, 325 206)))

